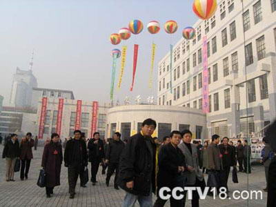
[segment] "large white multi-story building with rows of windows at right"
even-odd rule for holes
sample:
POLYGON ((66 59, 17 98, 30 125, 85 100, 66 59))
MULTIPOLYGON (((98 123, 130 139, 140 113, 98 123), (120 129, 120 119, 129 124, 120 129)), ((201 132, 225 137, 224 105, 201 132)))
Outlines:
POLYGON ((170 53, 159 61, 158 104, 202 108, 202 44, 206 36, 208 137, 261 130, 276 117, 275 19, 276 0, 244 1, 244 7, 242 1, 218 1, 215 15, 193 26, 195 37, 175 44, 172 91, 170 53))

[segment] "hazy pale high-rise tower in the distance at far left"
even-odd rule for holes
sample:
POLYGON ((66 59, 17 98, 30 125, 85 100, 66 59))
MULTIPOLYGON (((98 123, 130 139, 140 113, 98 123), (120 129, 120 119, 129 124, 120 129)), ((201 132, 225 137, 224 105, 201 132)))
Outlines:
POLYGON ((15 107, 31 106, 32 88, 37 88, 37 79, 32 74, 32 70, 17 68, 13 75, 10 105, 15 107))

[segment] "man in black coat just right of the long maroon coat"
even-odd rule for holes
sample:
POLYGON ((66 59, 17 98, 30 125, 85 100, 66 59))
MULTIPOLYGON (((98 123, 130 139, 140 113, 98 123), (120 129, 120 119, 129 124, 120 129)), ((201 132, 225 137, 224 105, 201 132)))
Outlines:
MULTIPOLYGON (((83 175, 84 168, 88 165, 86 141, 81 139, 81 131, 74 131, 74 139, 70 139, 66 143, 64 150, 64 163, 68 167, 68 183, 70 199, 75 196, 75 188, 77 179, 83 175)), ((81 186, 84 187, 83 184, 81 186)))

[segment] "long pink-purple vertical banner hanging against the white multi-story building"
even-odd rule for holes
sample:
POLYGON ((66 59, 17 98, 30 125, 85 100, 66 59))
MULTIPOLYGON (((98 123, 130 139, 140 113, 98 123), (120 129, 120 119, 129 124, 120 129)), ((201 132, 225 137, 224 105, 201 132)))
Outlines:
POLYGON ((208 88, 208 55, 207 55, 207 37, 203 37, 203 87, 202 87, 202 110, 204 113, 209 112, 209 88, 208 88))

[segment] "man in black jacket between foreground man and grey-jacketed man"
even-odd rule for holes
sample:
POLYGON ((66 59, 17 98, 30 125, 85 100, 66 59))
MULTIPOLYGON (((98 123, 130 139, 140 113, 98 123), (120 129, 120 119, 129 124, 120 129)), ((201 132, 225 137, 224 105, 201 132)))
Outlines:
MULTIPOLYGON (((154 207, 161 207, 166 204, 167 199, 161 199, 159 190, 163 187, 168 187, 172 190, 175 187, 182 187, 179 181, 181 172, 186 169, 185 157, 181 150, 177 147, 181 140, 181 133, 179 131, 172 131, 170 133, 170 143, 165 144, 159 150, 157 173, 157 200, 154 207)), ((177 200, 170 197, 170 206, 183 206, 183 199, 177 200)))

